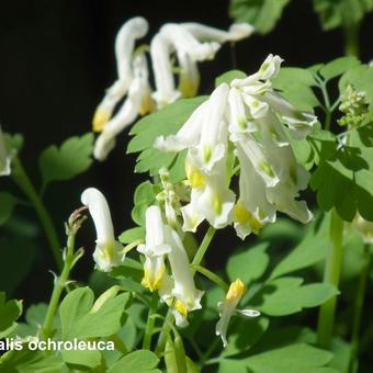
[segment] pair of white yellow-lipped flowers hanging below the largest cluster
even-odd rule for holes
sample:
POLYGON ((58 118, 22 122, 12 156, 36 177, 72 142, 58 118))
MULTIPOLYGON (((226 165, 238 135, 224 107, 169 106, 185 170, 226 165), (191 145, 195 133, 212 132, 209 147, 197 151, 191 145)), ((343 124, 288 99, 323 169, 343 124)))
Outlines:
POLYGON ((143 286, 151 292, 158 291, 160 298, 172 309, 176 323, 188 325, 188 313, 201 308, 204 292, 194 284, 187 251, 179 234, 163 223, 161 211, 152 205, 146 211, 145 245, 137 251, 145 256, 143 286), (166 269, 166 258, 171 268, 171 275, 166 269))

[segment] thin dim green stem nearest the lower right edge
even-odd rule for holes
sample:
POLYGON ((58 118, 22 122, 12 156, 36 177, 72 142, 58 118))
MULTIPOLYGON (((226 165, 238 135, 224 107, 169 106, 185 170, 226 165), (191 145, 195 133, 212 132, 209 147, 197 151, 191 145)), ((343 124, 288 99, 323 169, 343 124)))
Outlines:
POLYGON ((352 321, 352 335, 351 335, 351 354, 350 354, 350 363, 349 363, 349 372, 354 372, 354 365, 358 362, 359 355, 359 337, 360 337, 360 327, 361 327, 361 318, 363 313, 364 305, 364 296, 366 289, 366 281, 369 276, 369 268, 371 262, 371 248, 369 244, 365 244, 364 247, 364 258, 360 272, 359 284, 357 289, 357 297, 354 303, 354 313, 353 313, 353 321, 352 321))

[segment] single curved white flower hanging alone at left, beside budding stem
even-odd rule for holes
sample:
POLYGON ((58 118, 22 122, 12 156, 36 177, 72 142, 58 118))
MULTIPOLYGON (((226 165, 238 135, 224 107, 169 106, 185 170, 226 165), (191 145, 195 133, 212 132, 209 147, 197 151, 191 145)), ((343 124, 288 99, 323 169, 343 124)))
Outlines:
POLYGON ((122 263, 124 255, 123 246, 114 238, 108 202, 95 188, 86 189, 81 194, 81 202, 88 206, 98 236, 93 259, 100 271, 109 272, 122 263))

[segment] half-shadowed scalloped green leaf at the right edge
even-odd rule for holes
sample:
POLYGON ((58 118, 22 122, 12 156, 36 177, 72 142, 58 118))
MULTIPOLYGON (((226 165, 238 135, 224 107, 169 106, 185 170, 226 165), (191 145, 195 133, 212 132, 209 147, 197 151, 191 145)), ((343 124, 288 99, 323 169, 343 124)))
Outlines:
POLYGON ((317 191, 317 203, 324 211, 336 207, 342 219, 351 222, 357 211, 373 221, 373 147, 366 147, 366 136, 373 137, 373 123, 351 131, 349 146, 320 140, 318 168, 310 179, 317 191), (364 133, 364 140, 360 132, 364 133))

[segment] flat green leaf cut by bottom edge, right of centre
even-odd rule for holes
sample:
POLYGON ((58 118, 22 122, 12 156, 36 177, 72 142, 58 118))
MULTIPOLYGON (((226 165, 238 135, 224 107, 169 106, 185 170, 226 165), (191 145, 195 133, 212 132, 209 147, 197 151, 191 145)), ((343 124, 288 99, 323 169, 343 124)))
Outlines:
POLYGON ((256 373, 316 373, 328 364, 332 353, 315 347, 298 343, 263 352, 246 360, 247 366, 256 373))

